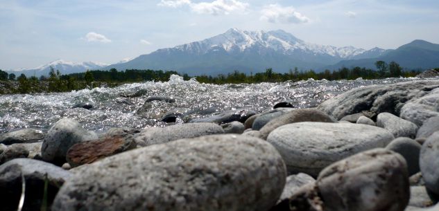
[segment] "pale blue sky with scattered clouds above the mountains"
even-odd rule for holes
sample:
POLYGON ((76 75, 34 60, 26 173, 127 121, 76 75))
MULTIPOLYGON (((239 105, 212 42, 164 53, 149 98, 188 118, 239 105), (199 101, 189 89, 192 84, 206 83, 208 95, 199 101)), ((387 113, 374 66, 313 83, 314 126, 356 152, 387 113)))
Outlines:
POLYGON ((439 1, 0 0, 0 69, 56 59, 114 64, 230 28, 365 49, 439 44, 439 1))

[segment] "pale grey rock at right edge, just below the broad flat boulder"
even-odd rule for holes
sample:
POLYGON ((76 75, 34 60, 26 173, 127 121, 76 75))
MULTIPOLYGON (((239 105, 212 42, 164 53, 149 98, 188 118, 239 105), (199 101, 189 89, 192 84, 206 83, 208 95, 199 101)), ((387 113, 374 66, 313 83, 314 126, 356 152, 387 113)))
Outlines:
MULTIPOLYGON (((436 80, 437 81, 437 80, 436 80)), ((411 100, 401 108, 399 117, 422 126, 426 120, 439 116, 439 89, 437 86, 426 86, 426 95, 411 100)))

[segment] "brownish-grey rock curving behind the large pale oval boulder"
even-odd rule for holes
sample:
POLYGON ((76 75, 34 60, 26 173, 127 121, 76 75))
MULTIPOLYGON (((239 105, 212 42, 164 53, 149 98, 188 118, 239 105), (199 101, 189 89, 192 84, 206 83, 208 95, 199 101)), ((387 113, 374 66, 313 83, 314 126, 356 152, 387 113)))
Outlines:
POLYGON ((264 127, 262 127, 259 132, 261 133, 261 138, 266 139, 268 134, 277 127, 282 125, 287 125, 295 122, 336 122, 333 118, 328 116, 322 111, 317 109, 296 109, 285 113, 278 118, 270 120, 264 127))

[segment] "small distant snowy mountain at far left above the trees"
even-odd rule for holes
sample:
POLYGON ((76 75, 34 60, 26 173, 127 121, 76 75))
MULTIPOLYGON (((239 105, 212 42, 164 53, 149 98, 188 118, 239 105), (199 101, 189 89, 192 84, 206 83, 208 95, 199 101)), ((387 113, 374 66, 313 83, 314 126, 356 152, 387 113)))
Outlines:
POLYGON ((83 73, 87 70, 101 69, 104 68, 105 66, 107 66, 107 64, 102 64, 98 62, 75 63, 75 62, 68 62, 62 59, 58 59, 53 62, 50 62, 49 64, 44 64, 36 68, 21 69, 19 71, 8 71, 8 73, 14 73, 17 76, 20 75, 21 73, 24 73, 24 75, 26 76, 35 75, 36 77, 40 77, 41 75, 48 76, 51 67, 53 67, 55 71, 59 70, 62 75, 65 75, 70 73, 83 73))

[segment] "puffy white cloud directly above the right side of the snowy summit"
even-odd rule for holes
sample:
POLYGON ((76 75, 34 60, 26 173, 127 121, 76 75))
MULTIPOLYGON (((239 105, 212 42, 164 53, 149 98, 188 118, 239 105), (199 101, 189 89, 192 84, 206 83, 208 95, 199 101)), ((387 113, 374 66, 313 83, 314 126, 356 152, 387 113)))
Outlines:
POLYGON ((282 7, 279 4, 270 4, 261 10, 261 20, 270 23, 284 23, 284 24, 304 24, 310 19, 300 12, 297 12, 293 7, 282 7))

